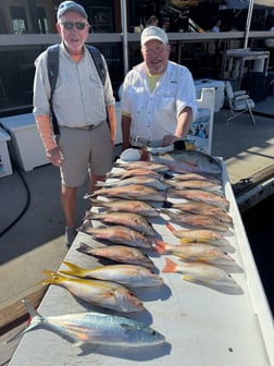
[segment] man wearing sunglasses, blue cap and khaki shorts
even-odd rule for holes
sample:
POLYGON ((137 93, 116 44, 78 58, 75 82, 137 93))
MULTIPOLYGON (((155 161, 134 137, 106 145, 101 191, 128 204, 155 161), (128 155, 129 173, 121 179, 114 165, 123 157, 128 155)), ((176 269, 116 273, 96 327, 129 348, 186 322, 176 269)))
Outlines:
POLYGON ((36 60, 34 115, 47 156, 61 172, 61 203, 65 216, 65 244, 76 236, 77 188, 89 173, 90 192, 112 169, 116 133, 115 99, 107 68, 104 85, 85 41, 89 33, 85 9, 63 1, 58 9, 57 29, 61 36, 59 73, 52 107, 60 135, 54 136, 50 120, 50 84, 47 51, 36 60), (107 122, 107 113, 109 125, 107 122))

